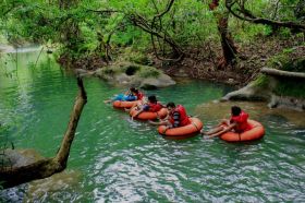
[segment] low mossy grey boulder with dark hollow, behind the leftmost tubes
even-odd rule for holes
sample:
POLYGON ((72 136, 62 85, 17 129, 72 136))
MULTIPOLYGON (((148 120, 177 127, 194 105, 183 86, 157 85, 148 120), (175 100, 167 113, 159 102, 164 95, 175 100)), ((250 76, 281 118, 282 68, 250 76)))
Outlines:
POLYGON ((115 63, 94 72, 108 82, 141 88, 159 88, 174 85, 175 82, 162 71, 148 65, 130 62, 115 63))

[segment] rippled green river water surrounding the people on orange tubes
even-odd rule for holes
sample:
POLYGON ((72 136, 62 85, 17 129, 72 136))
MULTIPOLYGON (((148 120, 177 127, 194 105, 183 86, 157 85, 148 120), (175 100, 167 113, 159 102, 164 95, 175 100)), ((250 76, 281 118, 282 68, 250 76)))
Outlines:
MULTIPOLYGON (((65 132, 77 93, 76 80, 39 51, 0 57, 1 146, 35 148, 51 157, 65 132), (17 64, 16 64, 17 61, 17 64), (36 62, 37 61, 37 62, 36 62)), ((102 100, 124 92, 85 77, 88 103, 82 114, 64 172, 0 191, 0 202, 304 202, 305 115, 239 103, 266 127, 252 143, 197 135, 160 136, 156 127, 132 121, 102 100)), ((145 91, 164 104, 183 104, 207 130, 230 112, 218 104, 232 87, 178 80, 145 91)))

